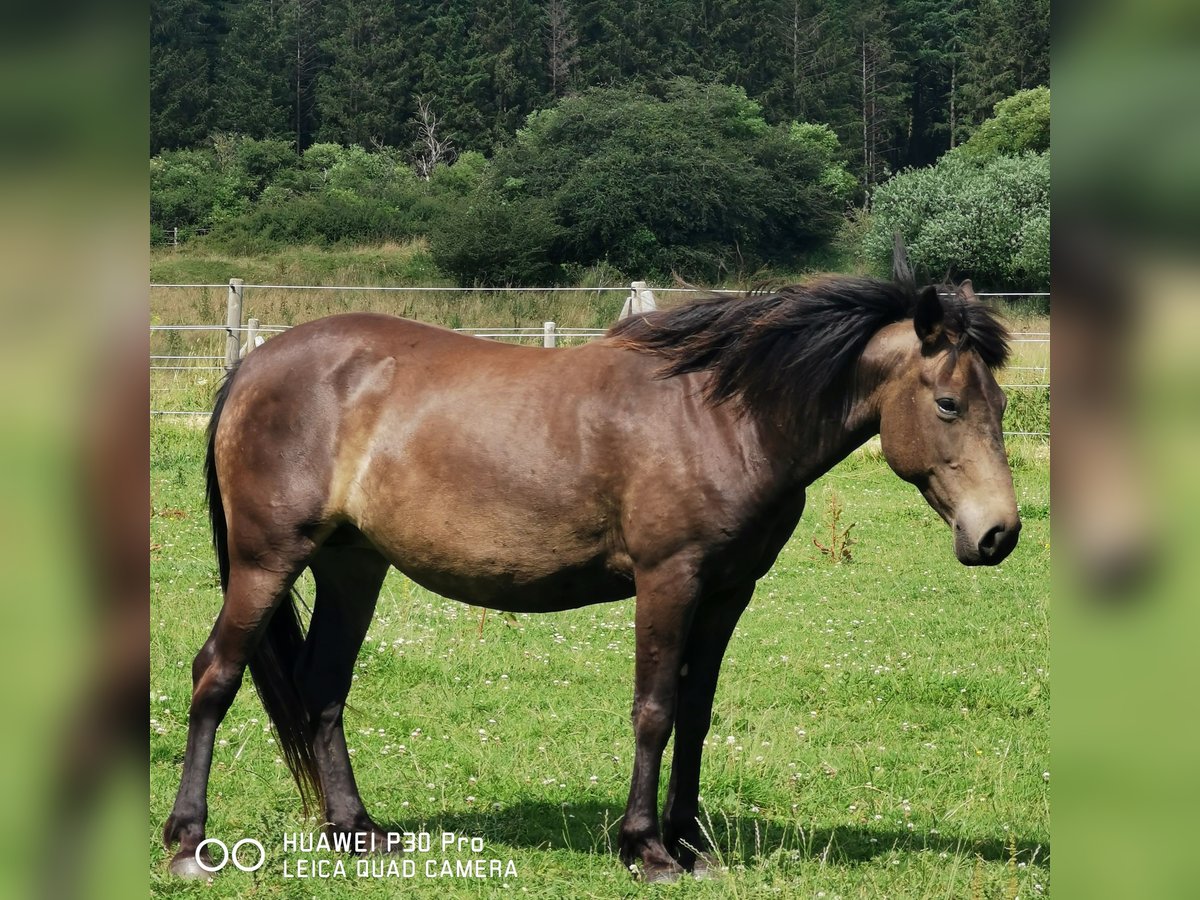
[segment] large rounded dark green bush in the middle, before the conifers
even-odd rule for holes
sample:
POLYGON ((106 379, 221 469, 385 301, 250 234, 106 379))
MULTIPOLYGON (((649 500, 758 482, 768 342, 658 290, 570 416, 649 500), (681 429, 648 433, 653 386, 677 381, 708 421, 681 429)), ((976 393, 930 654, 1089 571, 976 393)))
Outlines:
POLYGON ((718 278, 828 241, 853 188, 832 131, 770 126, 737 88, 594 89, 532 115, 432 250, 466 281, 557 280, 601 260, 718 278))

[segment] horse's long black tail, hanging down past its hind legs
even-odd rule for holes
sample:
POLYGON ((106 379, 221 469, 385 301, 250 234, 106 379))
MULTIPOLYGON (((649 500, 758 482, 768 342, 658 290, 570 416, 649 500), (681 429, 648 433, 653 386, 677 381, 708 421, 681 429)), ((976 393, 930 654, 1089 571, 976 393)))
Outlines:
MULTIPOLYGON (((217 390, 212 418, 209 419, 209 445, 204 462, 209 517, 212 522, 212 546, 217 553, 222 592, 229 587, 229 526, 226 522, 221 484, 217 480, 216 434, 236 373, 235 365, 217 390)), ((250 658, 250 676, 263 701, 263 708, 275 726, 283 761, 292 772, 296 787, 300 788, 300 799, 307 815, 313 809, 323 810, 324 794, 320 788, 317 758, 312 750, 313 726, 308 707, 300 696, 295 682, 296 664, 300 661, 304 647, 304 629, 296 611, 296 599, 293 588, 292 594, 271 613, 263 637, 250 658)))

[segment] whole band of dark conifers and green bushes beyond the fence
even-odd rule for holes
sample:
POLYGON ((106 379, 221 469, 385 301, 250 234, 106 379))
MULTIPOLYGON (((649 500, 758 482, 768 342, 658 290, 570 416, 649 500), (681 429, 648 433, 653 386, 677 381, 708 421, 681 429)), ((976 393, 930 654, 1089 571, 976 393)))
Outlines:
POLYGON ((882 274, 900 230, 926 274, 1044 288, 1048 24, 1048 0, 155 0, 151 239, 427 236, 445 274, 530 283, 882 274))

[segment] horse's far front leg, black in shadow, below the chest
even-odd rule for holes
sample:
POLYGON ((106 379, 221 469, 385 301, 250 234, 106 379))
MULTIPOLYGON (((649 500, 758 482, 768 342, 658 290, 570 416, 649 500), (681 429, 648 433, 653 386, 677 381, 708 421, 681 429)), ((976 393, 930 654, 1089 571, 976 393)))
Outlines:
POLYGON ((696 877, 708 872, 712 860, 703 851, 700 830, 700 758, 713 719, 713 696, 725 648, 733 628, 750 602, 754 582, 704 596, 696 608, 683 655, 679 709, 676 713, 674 758, 671 785, 662 808, 662 835, 667 850, 696 877))

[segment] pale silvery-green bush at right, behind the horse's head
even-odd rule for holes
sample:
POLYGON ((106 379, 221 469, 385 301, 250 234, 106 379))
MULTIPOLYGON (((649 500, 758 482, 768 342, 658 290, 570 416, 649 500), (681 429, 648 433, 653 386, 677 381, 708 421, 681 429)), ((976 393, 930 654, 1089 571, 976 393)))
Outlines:
POLYGON ((947 271, 978 286, 1045 290, 1050 284, 1050 154, 979 163, 947 154, 895 175, 872 197, 864 254, 880 272, 900 232, 918 274, 947 271))

